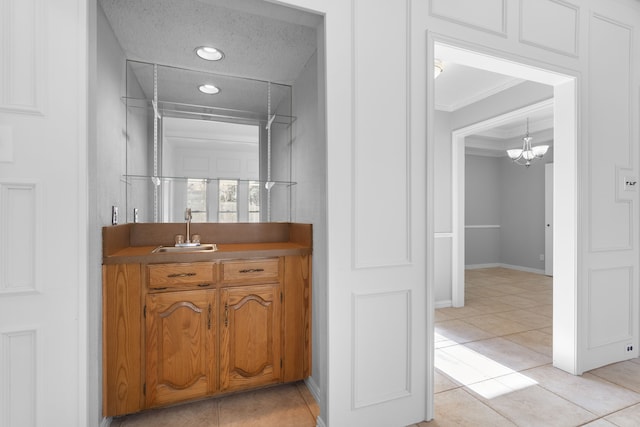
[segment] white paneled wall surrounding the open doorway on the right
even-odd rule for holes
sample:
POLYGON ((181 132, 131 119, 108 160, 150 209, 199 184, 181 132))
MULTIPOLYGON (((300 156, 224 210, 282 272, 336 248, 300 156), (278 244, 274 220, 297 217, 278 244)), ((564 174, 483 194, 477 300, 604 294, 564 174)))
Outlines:
MULTIPOLYGON (((416 414, 421 411, 432 416, 429 398, 419 399, 421 393, 429 393, 420 365, 426 364, 431 372, 432 361, 429 353, 418 351, 424 341, 416 335, 430 337, 432 325, 423 327, 430 317, 421 318, 418 312, 432 307, 434 281, 451 276, 439 264, 451 257, 425 251, 455 246, 442 212, 428 210, 422 197, 427 194, 429 206, 437 209, 433 188, 452 188, 449 159, 438 157, 446 153, 433 145, 425 147, 425 141, 433 143, 429 77, 435 41, 504 59, 511 69, 531 66, 527 72, 535 81, 540 70, 549 71, 547 77, 559 77, 551 83, 560 183, 554 188, 554 223, 561 230, 554 252, 565 255, 555 265, 554 338, 560 341, 554 342, 554 361, 581 373, 637 355, 622 353, 618 341, 631 337, 634 349, 638 347, 637 194, 619 191, 621 175, 638 174, 636 1, 284 3, 325 15, 331 351, 328 412, 320 425, 399 425, 419 421, 416 414), (435 156, 427 158, 426 152, 435 156), (426 176, 433 176, 434 182, 426 182, 426 176), (425 230, 431 233, 428 241, 425 230), (423 289, 425 283, 429 291, 423 289), (400 308, 403 292, 409 317, 400 308), (424 292, 430 295, 426 304, 424 292), (613 315, 614 306, 629 300, 628 311, 613 315), (388 354, 390 360, 376 354, 378 363, 400 363, 404 357, 395 347, 384 350, 385 342, 403 347, 386 329, 380 343, 370 338, 380 326, 371 318, 375 312, 400 334, 403 325, 410 331, 411 386, 406 398, 367 405, 380 400, 386 386, 399 390, 394 381, 401 371, 367 382, 365 378, 380 372, 374 369, 377 363, 360 365, 363 351, 388 354), (604 337, 615 338, 609 342, 604 337)), ((435 196, 444 203, 442 192, 435 196)))

